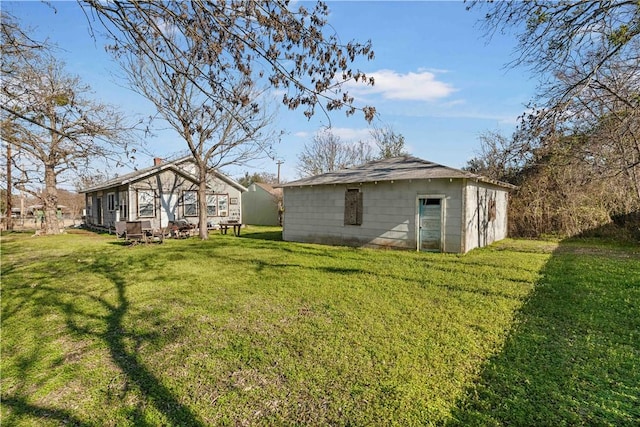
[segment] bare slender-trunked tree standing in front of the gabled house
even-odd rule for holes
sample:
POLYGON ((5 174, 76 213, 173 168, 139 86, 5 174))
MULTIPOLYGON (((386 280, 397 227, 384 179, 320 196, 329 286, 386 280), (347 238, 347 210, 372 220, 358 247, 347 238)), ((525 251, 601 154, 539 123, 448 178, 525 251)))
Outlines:
MULTIPOLYGON (((147 41, 148 49, 162 49, 161 43, 156 42, 147 41)), ((162 52, 144 59, 130 51, 116 54, 130 87, 153 102, 191 153, 198 178, 199 236, 207 239, 207 184, 211 170, 269 155, 276 142, 277 134, 270 128, 273 120, 266 109, 260 108, 260 93, 246 76, 228 75, 224 84, 234 98, 214 100, 207 96, 203 86, 208 79, 202 78, 203 63, 193 49, 171 58, 162 52), (171 61, 173 68, 181 72, 165 73, 165 61, 171 61)))

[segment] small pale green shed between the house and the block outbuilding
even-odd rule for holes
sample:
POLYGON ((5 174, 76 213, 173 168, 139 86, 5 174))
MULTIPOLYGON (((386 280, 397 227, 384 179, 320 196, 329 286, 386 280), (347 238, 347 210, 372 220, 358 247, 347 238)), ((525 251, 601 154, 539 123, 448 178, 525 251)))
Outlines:
POLYGON ((253 225, 282 225, 282 188, 254 182, 242 195, 243 221, 253 225))

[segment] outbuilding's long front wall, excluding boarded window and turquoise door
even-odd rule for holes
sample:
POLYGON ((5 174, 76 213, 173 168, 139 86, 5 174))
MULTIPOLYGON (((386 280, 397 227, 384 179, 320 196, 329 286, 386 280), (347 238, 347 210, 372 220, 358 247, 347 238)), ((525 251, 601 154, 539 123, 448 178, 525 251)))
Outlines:
POLYGON ((288 241, 417 248, 417 199, 445 196, 444 250, 460 252, 462 181, 414 180, 284 188, 283 238, 288 241), (361 225, 344 225, 347 188, 363 194, 361 225))

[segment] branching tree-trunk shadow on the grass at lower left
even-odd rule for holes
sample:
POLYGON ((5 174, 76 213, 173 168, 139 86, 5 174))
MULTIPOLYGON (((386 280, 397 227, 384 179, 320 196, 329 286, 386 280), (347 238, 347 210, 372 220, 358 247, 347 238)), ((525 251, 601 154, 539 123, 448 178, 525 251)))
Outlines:
MULTIPOLYGON (((46 266, 42 268, 47 269, 46 266)), ((38 286, 41 292, 45 292, 39 298, 43 304, 57 306, 61 309, 69 333, 75 336, 91 337, 106 344, 110 359, 125 377, 128 388, 139 390, 140 393, 138 407, 131 408, 128 414, 131 424, 149 425, 148 414, 145 413, 144 406, 150 406, 164 416, 163 423, 166 422, 168 425, 204 425, 198 416, 188 406, 182 404, 171 390, 163 385, 161 380, 145 366, 138 355, 138 350, 144 342, 153 341, 158 337, 153 333, 129 332, 124 324, 124 317, 130 307, 126 297, 127 282, 119 273, 119 269, 126 267, 113 265, 103 257, 81 268, 92 274, 101 275, 113 284, 115 288, 114 302, 110 302, 103 296, 90 295, 73 289, 61 290, 46 285, 38 286), (103 313, 106 311, 106 314, 83 310, 77 301, 87 298, 98 304, 104 310, 103 313), (104 327, 96 327, 95 323, 93 326, 83 325, 87 321, 95 322, 96 320, 99 321, 99 325, 104 327), (131 342, 134 342, 135 345, 127 344, 131 342)), ((25 366, 21 366, 20 369, 25 372, 26 376, 30 366, 35 364, 35 360, 25 360, 22 363, 25 366)), ((69 410, 30 403, 29 399, 24 397, 19 390, 16 390, 17 393, 3 394, 2 396, 2 405, 11 408, 9 419, 5 419, 5 422, 11 422, 14 417, 29 417, 58 420, 62 424, 68 425, 95 425, 93 422, 78 418, 69 410)))

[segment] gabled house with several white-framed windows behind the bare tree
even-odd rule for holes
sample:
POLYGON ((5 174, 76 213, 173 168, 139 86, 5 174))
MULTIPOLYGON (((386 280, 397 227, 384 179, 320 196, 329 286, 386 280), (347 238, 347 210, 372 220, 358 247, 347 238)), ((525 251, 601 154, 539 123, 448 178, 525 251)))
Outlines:
MULTIPOLYGON (((211 171, 207 183, 207 222, 242 222, 245 187, 211 171)), ((190 157, 170 162, 156 158, 154 165, 85 188, 85 223, 113 228, 116 221, 150 220, 155 229, 169 221, 186 219, 198 224, 196 168, 190 157)))

